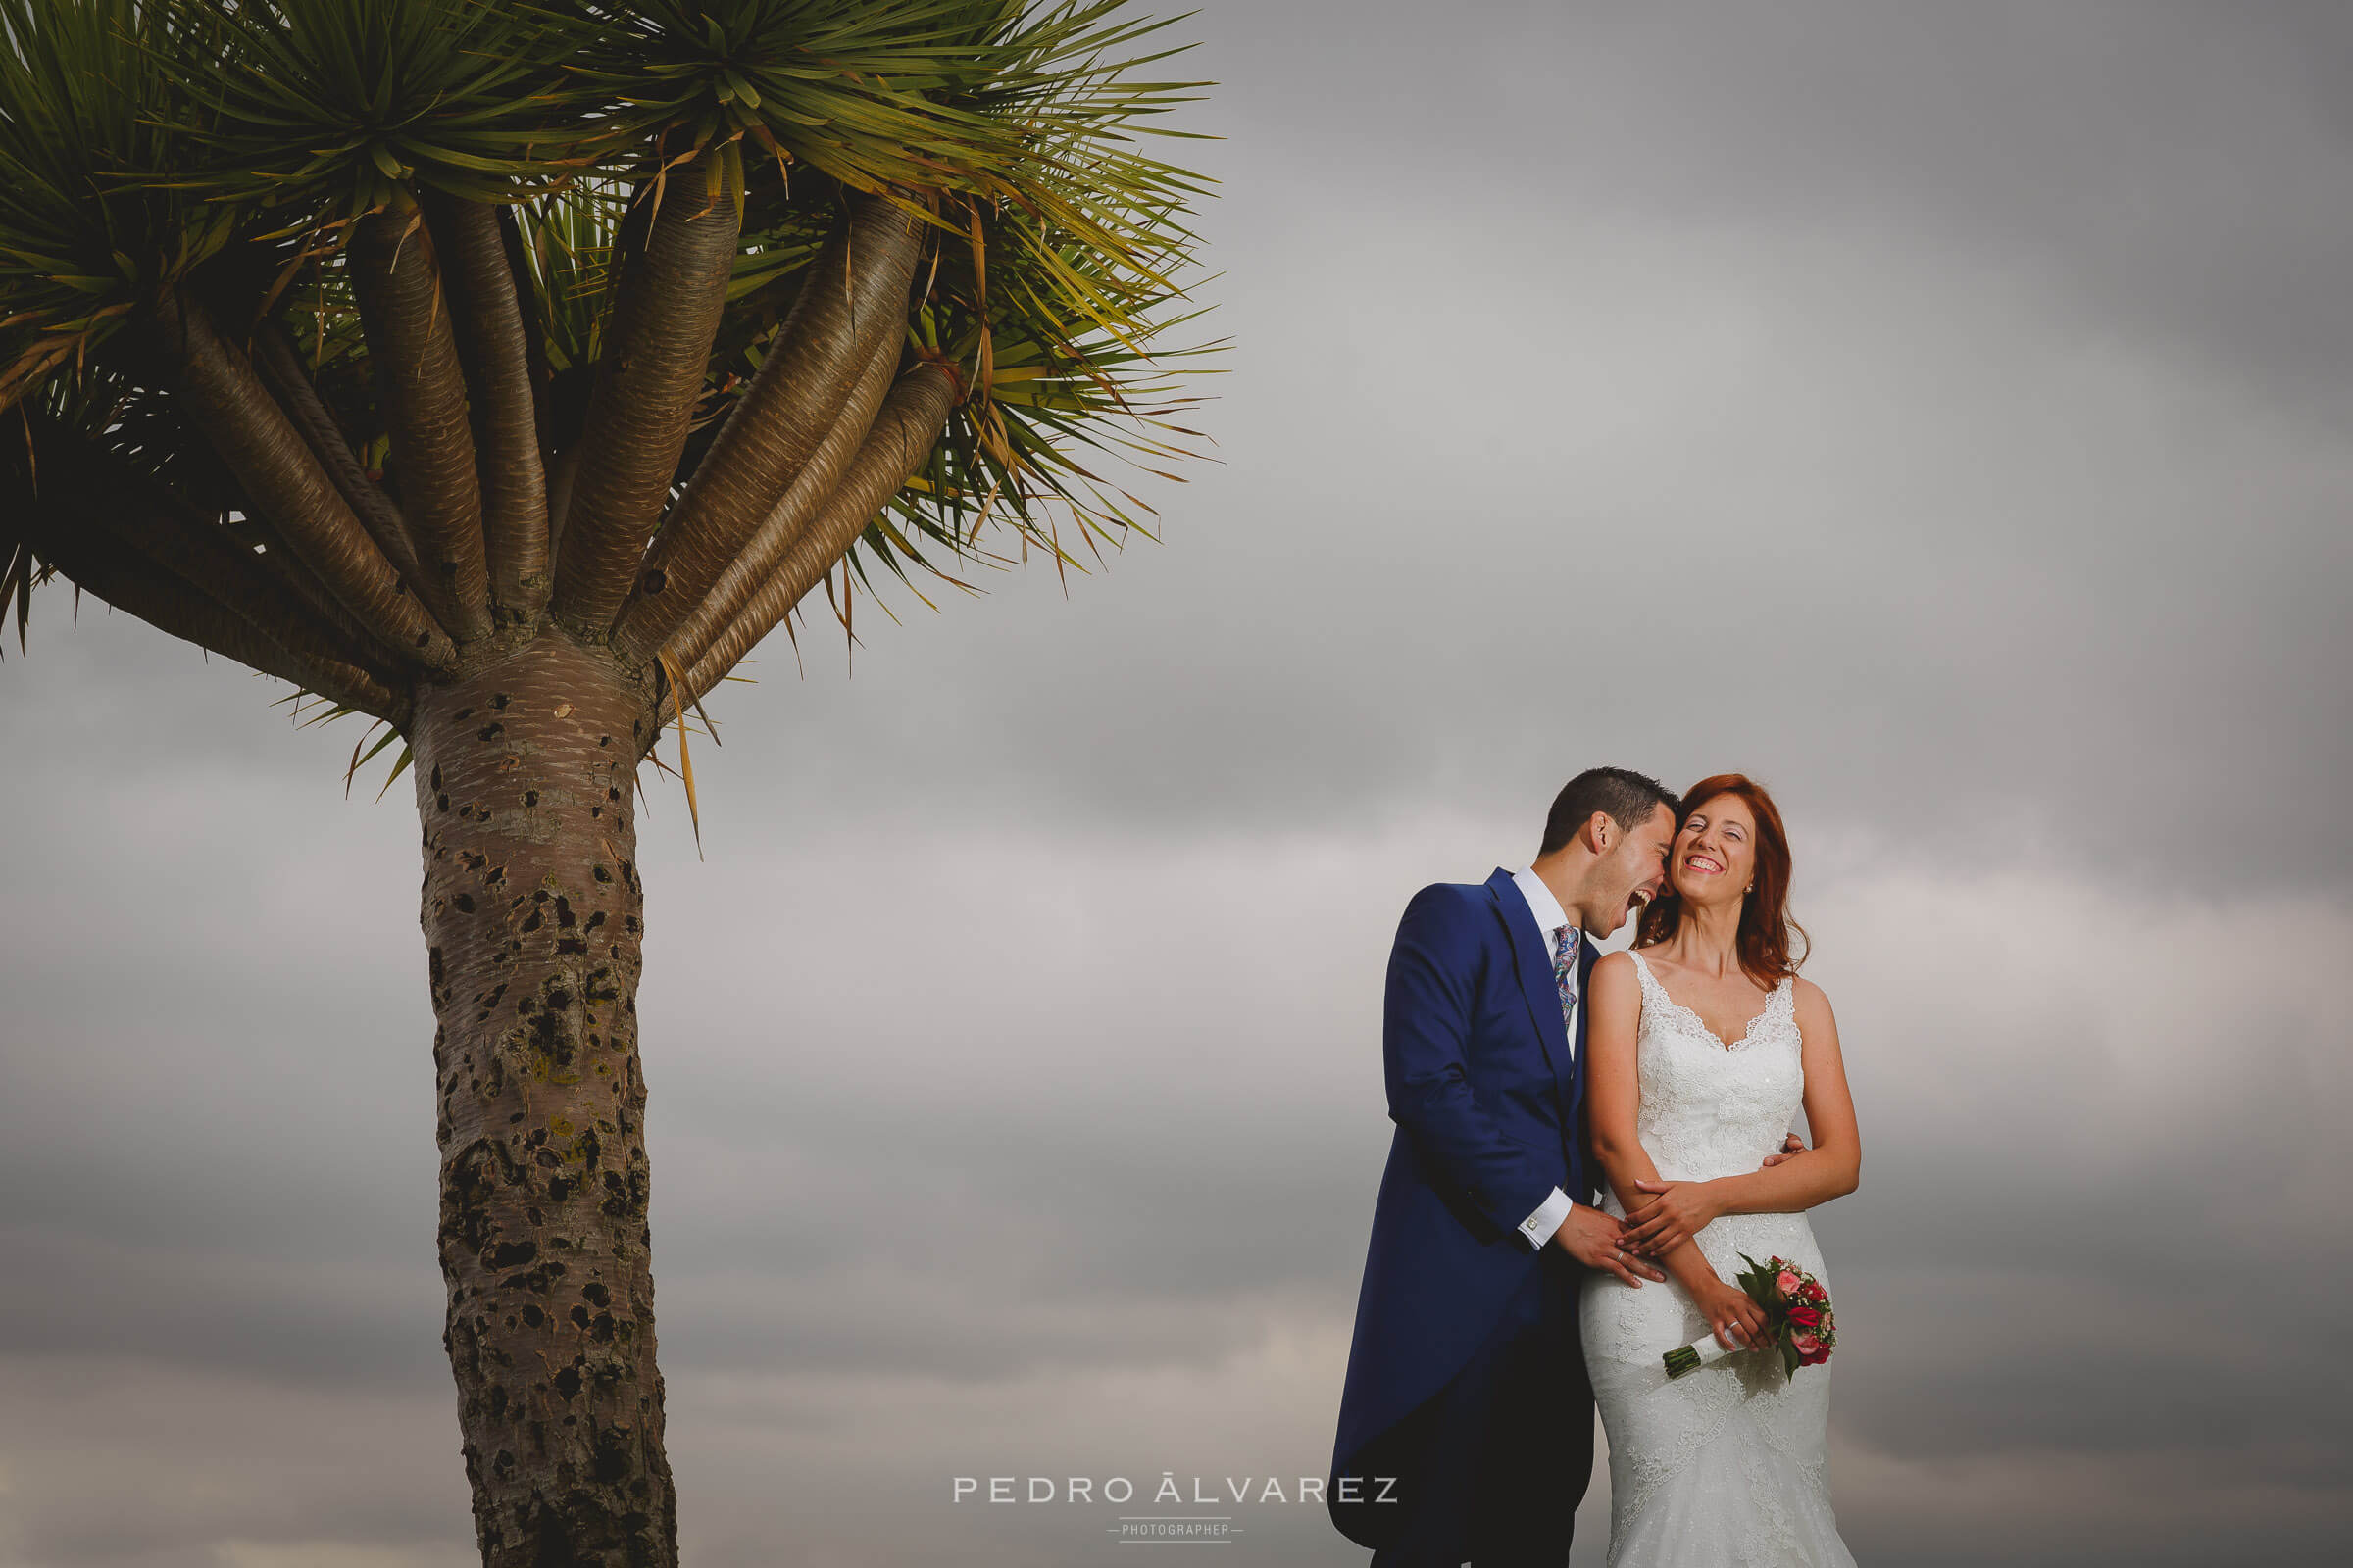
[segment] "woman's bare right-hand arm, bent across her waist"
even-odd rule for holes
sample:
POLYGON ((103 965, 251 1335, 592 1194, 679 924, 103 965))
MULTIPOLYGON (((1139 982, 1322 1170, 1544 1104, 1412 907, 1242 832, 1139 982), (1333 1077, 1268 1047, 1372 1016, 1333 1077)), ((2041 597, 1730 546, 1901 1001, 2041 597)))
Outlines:
MULTIPOLYGON (((1854 1192, 1864 1168, 1864 1140, 1854 1126, 1847 1065, 1838 1053, 1838 1020, 1831 1016, 1831 999, 1812 980, 1798 980, 1798 1037, 1805 1060, 1805 1124, 1814 1133, 1814 1147, 1765 1171, 1720 1175, 1713 1182, 1645 1180, 1638 1187, 1642 1208, 1619 1199, 1626 1204, 1626 1237, 1633 1246, 1661 1258, 1661 1248, 1685 1246, 1715 1215, 1800 1213, 1854 1192)), ((1593 1093, 1591 1086, 1586 1093, 1593 1093)))

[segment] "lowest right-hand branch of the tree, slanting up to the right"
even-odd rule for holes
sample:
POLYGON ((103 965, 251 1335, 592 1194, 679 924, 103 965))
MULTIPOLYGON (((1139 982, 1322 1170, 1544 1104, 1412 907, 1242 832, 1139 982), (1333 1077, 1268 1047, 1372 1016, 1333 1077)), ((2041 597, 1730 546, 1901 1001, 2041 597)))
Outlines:
MULTIPOLYGON (((687 703, 720 684, 736 668, 736 661, 776 630, 776 623, 800 604, 805 592, 816 588, 833 562, 842 559, 875 520, 875 512, 899 494, 908 475, 922 468, 951 409, 955 409, 955 378, 939 362, 925 360, 899 376, 889 397, 882 400, 882 411, 875 414, 873 430, 866 433, 856 458, 849 461, 849 473, 842 475, 824 510, 784 550, 776 571, 736 611, 727 630, 694 661, 685 682, 687 703)), ((656 722, 675 719, 678 705, 680 693, 673 689, 656 708, 656 722)))

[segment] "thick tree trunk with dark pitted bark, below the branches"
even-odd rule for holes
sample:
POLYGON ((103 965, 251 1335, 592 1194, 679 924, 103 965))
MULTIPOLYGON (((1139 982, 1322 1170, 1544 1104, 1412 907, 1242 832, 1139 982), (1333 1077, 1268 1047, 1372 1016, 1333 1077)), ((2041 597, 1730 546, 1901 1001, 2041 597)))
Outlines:
POLYGON ((647 691, 546 628, 416 691, 449 1371, 485 1568, 673 1568, 638 1063, 647 691))

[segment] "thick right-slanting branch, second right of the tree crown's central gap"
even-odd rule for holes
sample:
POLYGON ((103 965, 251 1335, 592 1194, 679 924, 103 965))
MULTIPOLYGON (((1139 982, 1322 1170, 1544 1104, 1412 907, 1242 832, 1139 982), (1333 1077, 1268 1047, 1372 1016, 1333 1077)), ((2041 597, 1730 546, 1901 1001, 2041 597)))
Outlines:
MULTIPOLYGON (((654 536, 621 611, 635 654, 661 646, 838 425, 880 343, 906 334, 920 223, 859 193, 809 263, 800 294, 718 440, 654 536)), ((624 642, 616 630, 614 642, 624 642)))

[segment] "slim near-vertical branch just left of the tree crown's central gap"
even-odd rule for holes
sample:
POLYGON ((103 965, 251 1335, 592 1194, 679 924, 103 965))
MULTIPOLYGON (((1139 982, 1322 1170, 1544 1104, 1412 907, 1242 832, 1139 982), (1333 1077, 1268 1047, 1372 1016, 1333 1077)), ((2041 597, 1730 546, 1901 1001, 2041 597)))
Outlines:
POLYGON ((489 602, 515 621, 532 621, 546 607, 551 583, 548 477, 504 209, 449 197, 435 200, 431 212, 433 226, 447 235, 442 275, 475 411, 489 602))

